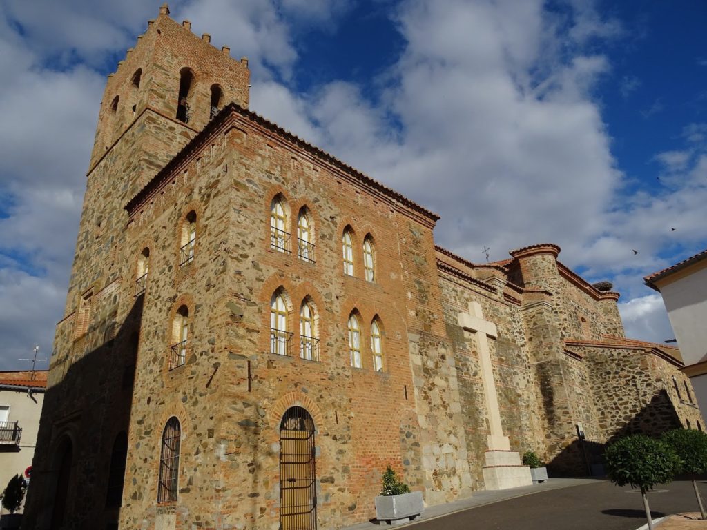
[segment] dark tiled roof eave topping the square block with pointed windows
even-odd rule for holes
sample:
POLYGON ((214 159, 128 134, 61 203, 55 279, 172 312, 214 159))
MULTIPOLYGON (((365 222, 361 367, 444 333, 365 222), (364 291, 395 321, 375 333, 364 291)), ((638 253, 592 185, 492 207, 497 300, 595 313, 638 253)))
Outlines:
POLYGON ((132 215, 136 208, 141 206, 141 204, 144 204, 146 200, 151 196, 152 192, 155 191, 158 187, 159 184, 168 176, 171 174, 171 172, 176 168, 179 167, 179 165, 182 163, 185 158, 188 157, 189 154, 192 153, 192 151, 196 151, 197 148, 199 147, 200 143, 204 142, 204 139, 206 139, 212 131, 215 131, 218 129, 219 126, 225 124, 230 117, 230 114, 232 112, 235 112, 237 114, 240 114, 241 116, 250 119, 252 122, 255 122, 261 126, 264 126, 265 128, 274 131, 276 134, 279 134, 281 136, 284 136, 284 138, 288 141, 291 141, 292 143, 296 143, 298 146, 301 148, 304 148, 306 151, 309 151, 310 153, 326 160, 329 163, 332 163, 332 165, 337 166, 340 170, 344 170, 344 172, 349 173, 350 175, 354 176, 356 179, 359 181, 363 182, 363 184, 366 184, 370 187, 373 187, 375 189, 378 189, 379 192, 382 192, 382 194, 385 194, 389 196, 391 199, 398 201, 400 204, 407 206, 408 208, 411 208, 413 211, 416 211, 417 213, 421 213, 423 216, 431 220, 433 223, 436 223, 436 221, 440 220, 440 216, 438 216, 436 213, 433 211, 428 210, 427 208, 424 208, 423 206, 420 206, 419 204, 416 204, 414 201, 411 201, 410 199, 407 199, 407 197, 403 196, 402 194, 399 194, 395 190, 385 186, 384 184, 378 182, 377 180, 368 177, 365 173, 357 170, 355 167, 352 167, 338 158, 334 157, 333 155, 330 155, 326 151, 323 151, 322 149, 318 148, 317 146, 313 146, 311 143, 308 143, 307 141, 304 141, 303 139, 300 139, 298 136, 295 134, 292 134, 290 131, 287 131, 286 129, 283 129, 281 126, 274 124, 273 122, 269 122, 267 119, 264 117, 260 116, 259 114, 256 114, 255 112, 252 112, 251 110, 244 109, 243 107, 240 107, 240 105, 236 104, 235 102, 230 102, 226 107, 223 107, 216 116, 211 119, 211 121, 206 124, 204 129, 197 134, 197 136, 194 136, 194 138, 187 143, 187 145, 182 148, 182 151, 177 153, 170 162, 165 165, 154 177, 150 179, 150 181, 141 189, 137 194, 128 201, 128 203, 125 205, 125 210, 128 211, 129 214, 132 215))

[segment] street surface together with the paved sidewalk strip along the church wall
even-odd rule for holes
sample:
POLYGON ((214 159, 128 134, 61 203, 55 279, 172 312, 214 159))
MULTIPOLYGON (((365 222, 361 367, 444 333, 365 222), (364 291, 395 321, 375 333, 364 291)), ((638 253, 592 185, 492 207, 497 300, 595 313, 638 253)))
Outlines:
MULTIPOLYGON (((707 483, 698 485, 706 498, 707 483)), ((656 486, 648 498, 655 530, 707 530, 707 521, 689 518, 695 517, 690 512, 696 508, 689 481, 656 486)), ((464 500, 430 506, 421 519, 404 526, 409 530, 645 530, 645 523, 638 490, 606 480, 551 478, 544 484, 478 491, 464 500)), ((345 530, 385 527, 366 522, 345 530)))

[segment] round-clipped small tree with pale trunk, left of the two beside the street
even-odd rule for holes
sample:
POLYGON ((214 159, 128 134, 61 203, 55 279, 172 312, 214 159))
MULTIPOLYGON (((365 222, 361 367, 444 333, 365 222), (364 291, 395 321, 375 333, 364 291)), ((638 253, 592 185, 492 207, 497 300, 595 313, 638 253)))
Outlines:
POLYGON ((631 488, 641 489, 648 529, 653 530, 646 493, 656 484, 672 481, 680 464, 677 454, 661 440, 633 435, 609 445, 604 452, 604 460, 607 476, 612 482, 620 486, 630 484, 631 488))

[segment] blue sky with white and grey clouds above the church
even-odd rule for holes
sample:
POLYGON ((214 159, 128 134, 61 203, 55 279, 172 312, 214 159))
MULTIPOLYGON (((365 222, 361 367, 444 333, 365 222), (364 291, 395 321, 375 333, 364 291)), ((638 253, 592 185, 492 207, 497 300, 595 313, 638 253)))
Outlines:
MULTIPOLYGON (((105 76, 158 4, 0 4, 0 370, 51 351, 105 76)), ((672 338, 642 278, 707 247, 707 4, 170 9, 249 57, 253 110, 438 212, 440 245, 484 261, 554 242, 614 281, 629 336, 672 338)))

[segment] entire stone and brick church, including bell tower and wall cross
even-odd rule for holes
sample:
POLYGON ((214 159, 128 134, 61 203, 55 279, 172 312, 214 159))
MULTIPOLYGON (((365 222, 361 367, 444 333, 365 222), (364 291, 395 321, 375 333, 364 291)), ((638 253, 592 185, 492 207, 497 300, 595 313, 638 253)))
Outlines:
POLYGON ((679 352, 624 338, 559 247, 436 247, 249 78, 163 6, 107 80, 29 528, 345 526, 389 463, 434 504, 527 483, 527 449, 586 474, 621 433, 702 427, 679 352))

